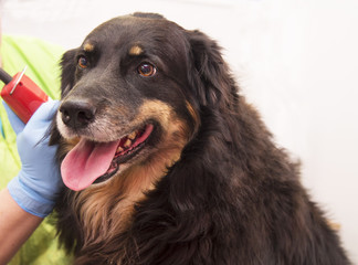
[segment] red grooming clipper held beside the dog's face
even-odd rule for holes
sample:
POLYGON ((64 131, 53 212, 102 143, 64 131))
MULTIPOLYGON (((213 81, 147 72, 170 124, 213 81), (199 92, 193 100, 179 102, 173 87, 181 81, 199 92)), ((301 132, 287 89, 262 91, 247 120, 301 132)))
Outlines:
POLYGON ((0 68, 0 80, 6 84, 1 97, 27 124, 40 105, 48 102, 49 96, 24 74, 25 70, 11 77, 0 68))

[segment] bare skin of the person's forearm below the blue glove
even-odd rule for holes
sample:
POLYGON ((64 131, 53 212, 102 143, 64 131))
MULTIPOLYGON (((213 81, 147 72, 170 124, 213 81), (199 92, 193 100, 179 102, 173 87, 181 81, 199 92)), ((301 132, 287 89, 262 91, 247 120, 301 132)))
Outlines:
POLYGON ((0 191, 0 264, 7 264, 43 219, 20 208, 8 189, 0 191))

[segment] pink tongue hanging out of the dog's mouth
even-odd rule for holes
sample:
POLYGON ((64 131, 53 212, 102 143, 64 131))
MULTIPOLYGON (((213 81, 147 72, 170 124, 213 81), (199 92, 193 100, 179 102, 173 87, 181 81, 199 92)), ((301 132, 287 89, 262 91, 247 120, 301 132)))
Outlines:
POLYGON ((91 186, 107 172, 118 144, 81 139, 62 161, 61 174, 65 186, 75 191, 91 186))

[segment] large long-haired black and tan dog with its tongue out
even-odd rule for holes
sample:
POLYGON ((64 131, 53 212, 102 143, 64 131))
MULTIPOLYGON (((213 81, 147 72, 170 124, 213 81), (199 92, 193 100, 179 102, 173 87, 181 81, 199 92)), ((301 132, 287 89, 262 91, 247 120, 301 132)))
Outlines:
POLYGON ((118 17, 61 65, 55 211, 74 264, 350 264, 204 33, 118 17))

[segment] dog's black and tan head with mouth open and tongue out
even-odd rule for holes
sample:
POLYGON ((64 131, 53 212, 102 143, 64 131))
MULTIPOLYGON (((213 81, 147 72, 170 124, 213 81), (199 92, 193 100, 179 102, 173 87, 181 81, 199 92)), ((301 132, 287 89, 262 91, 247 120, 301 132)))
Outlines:
POLYGON ((165 171, 197 134, 201 107, 225 104, 230 94, 217 44, 158 14, 99 25, 64 54, 62 68, 55 123, 73 190, 138 165, 165 171))

